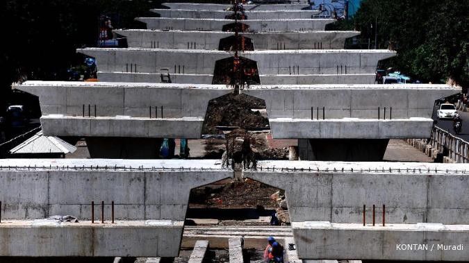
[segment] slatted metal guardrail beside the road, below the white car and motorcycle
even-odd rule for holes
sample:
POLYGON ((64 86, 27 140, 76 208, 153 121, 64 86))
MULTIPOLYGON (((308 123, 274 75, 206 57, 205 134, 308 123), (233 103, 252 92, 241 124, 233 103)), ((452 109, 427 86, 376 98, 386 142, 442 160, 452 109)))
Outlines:
MULTIPOLYGON (((431 137, 427 144, 439 153, 447 153, 447 157, 454 162, 469 162, 469 142, 452 135, 442 128, 434 127, 431 130, 431 137)), ((446 154, 445 154, 446 155, 446 154)))

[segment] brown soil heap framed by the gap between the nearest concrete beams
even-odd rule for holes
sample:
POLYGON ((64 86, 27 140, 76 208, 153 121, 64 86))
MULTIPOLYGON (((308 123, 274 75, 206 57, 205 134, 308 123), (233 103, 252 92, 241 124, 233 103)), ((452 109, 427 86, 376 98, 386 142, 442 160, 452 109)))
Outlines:
POLYGON ((204 205, 218 208, 276 207, 270 196, 279 189, 254 180, 231 181, 218 189, 195 189, 191 192, 190 206, 204 205), (199 191, 197 191, 199 190, 199 191), (191 205, 192 204, 192 205, 191 205))

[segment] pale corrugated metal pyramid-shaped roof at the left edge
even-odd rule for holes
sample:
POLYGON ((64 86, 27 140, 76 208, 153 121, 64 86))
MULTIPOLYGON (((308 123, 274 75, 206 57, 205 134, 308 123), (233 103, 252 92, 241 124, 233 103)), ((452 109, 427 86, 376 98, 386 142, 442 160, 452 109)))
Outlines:
POLYGON ((26 139, 15 148, 10 150, 10 154, 24 153, 73 153, 76 147, 63 139, 54 136, 42 135, 42 130, 33 137, 26 139))

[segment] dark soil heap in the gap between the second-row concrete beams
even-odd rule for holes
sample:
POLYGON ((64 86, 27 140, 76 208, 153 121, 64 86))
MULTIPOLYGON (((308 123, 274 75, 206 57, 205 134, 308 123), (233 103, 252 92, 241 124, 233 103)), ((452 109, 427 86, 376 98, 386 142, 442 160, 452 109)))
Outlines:
POLYGON ((204 134, 222 134, 216 126, 238 126, 245 130, 269 129, 269 120, 258 110, 265 108, 265 101, 246 94, 227 94, 208 102, 204 134))

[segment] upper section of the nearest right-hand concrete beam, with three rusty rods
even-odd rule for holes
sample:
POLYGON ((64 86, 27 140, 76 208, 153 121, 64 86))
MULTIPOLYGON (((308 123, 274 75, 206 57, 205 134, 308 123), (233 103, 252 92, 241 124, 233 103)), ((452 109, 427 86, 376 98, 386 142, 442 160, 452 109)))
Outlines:
POLYGON ((244 176, 284 189, 291 221, 360 223, 366 205, 371 222, 373 204, 381 221, 384 204, 388 223, 469 224, 469 200, 461 198, 469 164, 261 161, 257 167, 244 176))

